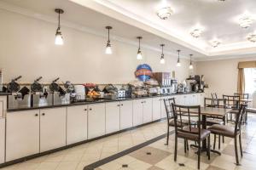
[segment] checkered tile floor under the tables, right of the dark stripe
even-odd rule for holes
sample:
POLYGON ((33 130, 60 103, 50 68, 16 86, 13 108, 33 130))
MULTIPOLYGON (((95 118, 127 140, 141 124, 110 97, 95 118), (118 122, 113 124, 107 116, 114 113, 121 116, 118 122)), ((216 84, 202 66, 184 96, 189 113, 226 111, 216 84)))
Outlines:
MULTIPOLYGON (((249 115, 249 122, 242 130, 243 158, 240 159, 241 166, 236 166, 234 152, 234 140, 225 138, 221 143, 222 155, 211 153, 208 161, 206 153, 201 156, 201 169, 203 170, 254 170, 256 169, 256 115, 249 115)), ((232 126, 230 124, 230 126, 232 126)), ((213 138, 212 138, 213 139, 213 138)), ((166 139, 160 139, 153 144, 136 150, 126 156, 119 157, 114 161, 97 167, 96 170, 182 170, 197 169, 196 149, 189 148, 187 154, 183 150, 183 140, 178 140, 177 162, 174 156, 174 135, 170 136, 170 144, 166 146, 166 139), (125 166, 125 167, 123 167, 125 166)), ((218 139, 217 139, 218 141, 218 139)), ((212 141, 213 144, 213 141, 212 141)), ((218 150, 218 144, 217 148, 218 150)), ((240 153, 240 152, 239 152, 240 153)))

